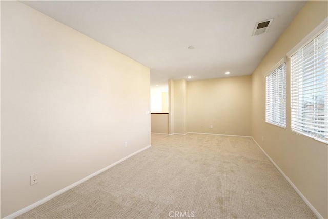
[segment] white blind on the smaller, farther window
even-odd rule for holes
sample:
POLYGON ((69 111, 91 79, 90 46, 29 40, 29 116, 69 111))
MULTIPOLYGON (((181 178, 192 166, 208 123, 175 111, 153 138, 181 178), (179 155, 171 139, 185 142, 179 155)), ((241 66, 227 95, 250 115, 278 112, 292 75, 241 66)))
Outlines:
POLYGON ((265 122, 286 127, 286 63, 265 77, 265 122))

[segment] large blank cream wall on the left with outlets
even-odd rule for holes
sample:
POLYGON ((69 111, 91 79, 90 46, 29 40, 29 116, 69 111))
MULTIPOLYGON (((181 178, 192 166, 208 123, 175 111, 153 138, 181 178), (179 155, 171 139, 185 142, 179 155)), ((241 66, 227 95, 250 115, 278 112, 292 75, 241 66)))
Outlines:
POLYGON ((150 145, 150 70, 22 3, 1 4, 5 217, 150 145))

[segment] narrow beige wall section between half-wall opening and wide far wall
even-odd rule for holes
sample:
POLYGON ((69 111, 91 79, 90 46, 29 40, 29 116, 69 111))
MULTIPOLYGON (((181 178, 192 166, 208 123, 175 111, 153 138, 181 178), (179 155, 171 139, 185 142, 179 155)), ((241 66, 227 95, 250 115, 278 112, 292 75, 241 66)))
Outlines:
POLYGON ((173 133, 186 134, 186 80, 173 81, 173 133))

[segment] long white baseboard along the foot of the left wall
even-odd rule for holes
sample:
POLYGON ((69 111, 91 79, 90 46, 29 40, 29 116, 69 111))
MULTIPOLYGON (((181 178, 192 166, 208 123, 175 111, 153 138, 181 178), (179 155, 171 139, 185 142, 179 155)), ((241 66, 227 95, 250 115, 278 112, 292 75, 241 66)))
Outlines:
POLYGON ((107 166, 107 167, 104 167, 103 169, 98 170, 97 172, 94 172, 94 173, 92 173, 91 175, 88 175, 88 176, 84 177, 83 179, 81 179, 81 180, 79 180, 79 181, 77 181, 77 182, 75 182, 75 183, 73 183, 73 184, 71 184, 71 185, 69 185, 69 186, 67 186, 67 187, 65 187, 65 188, 63 188, 63 189, 60 189, 59 191, 57 191, 57 192, 55 192, 55 193, 53 193, 53 194, 51 194, 51 195, 49 195, 49 196, 43 198, 42 200, 37 201, 37 202, 33 203, 32 205, 29 205, 29 206, 27 206, 27 207, 25 207, 25 208, 23 208, 23 209, 21 209, 21 210, 19 210, 19 211, 16 211, 16 212, 13 213, 13 214, 10 214, 9 216, 5 217, 4 219, 12 219, 12 218, 15 218, 15 217, 17 217, 17 216, 19 216, 19 215, 21 215, 21 214, 24 214, 25 212, 28 212, 28 211, 32 210, 33 208, 35 208, 35 207, 37 207, 37 206, 39 206, 39 205, 42 205, 42 204, 48 202, 48 201, 51 200, 52 198, 54 198, 54 197, 56 197, 56 196, 58 196, 58 195, 60 195, 60 194, 62 194, 62 193, 64 193, 64 192, 66 192, 66 191, 68 191, 68 190, 70 190, 70 189, 72 189, 72 188, 74 188, 75 186, 77 186, 77 185, 79 185, 79 184, 81 184, 81 183, 84 183, 85 181, 87 181, 87 180, 89 180, 90 178, 92 178, 92 177, 98 175, 99 173, 102 173, 102 172, 108 170, 109 168, 111 168, 111 167, 113 167, 113 166, 115 166, 115 165, 121 163, 122 161, 127 160, 127 159, 130 158, 131 156, 134 156, 134 155, 136 155, 137 153, 140 153, 141 151, 144 151, 144 150, 146 150, 147 148, 150 148, 150 147, 151 147, 151 145, 148 145, 148 146, 146 146, 146 147, 144 147, 144 148, 141 148, 140 150, 138 150, 138 151, 136 151, 136 152, 134 152, 134 153, 132 153, 132 154, 130 154, 130 155, 124 157, 124 158, 121 158, 121 160, 116 161, 116 162, 114 162, 113 164, 111 164, 111 165, 109 165, 109 166, 107 166))

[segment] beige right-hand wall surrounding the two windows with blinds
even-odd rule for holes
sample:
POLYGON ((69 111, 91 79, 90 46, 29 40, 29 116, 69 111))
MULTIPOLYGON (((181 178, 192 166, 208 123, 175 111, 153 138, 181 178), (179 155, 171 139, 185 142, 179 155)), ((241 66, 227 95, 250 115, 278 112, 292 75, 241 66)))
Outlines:
POLYGON ((328 218, 328 146, 291 132, 290 61, 287 60, 286 129, 265 123, 263 74, 328 16, 327 1, 309 1, 252 75, 252 136, 293 184, 328 218), (262 141, 263 136, 263 141, 262 141))

